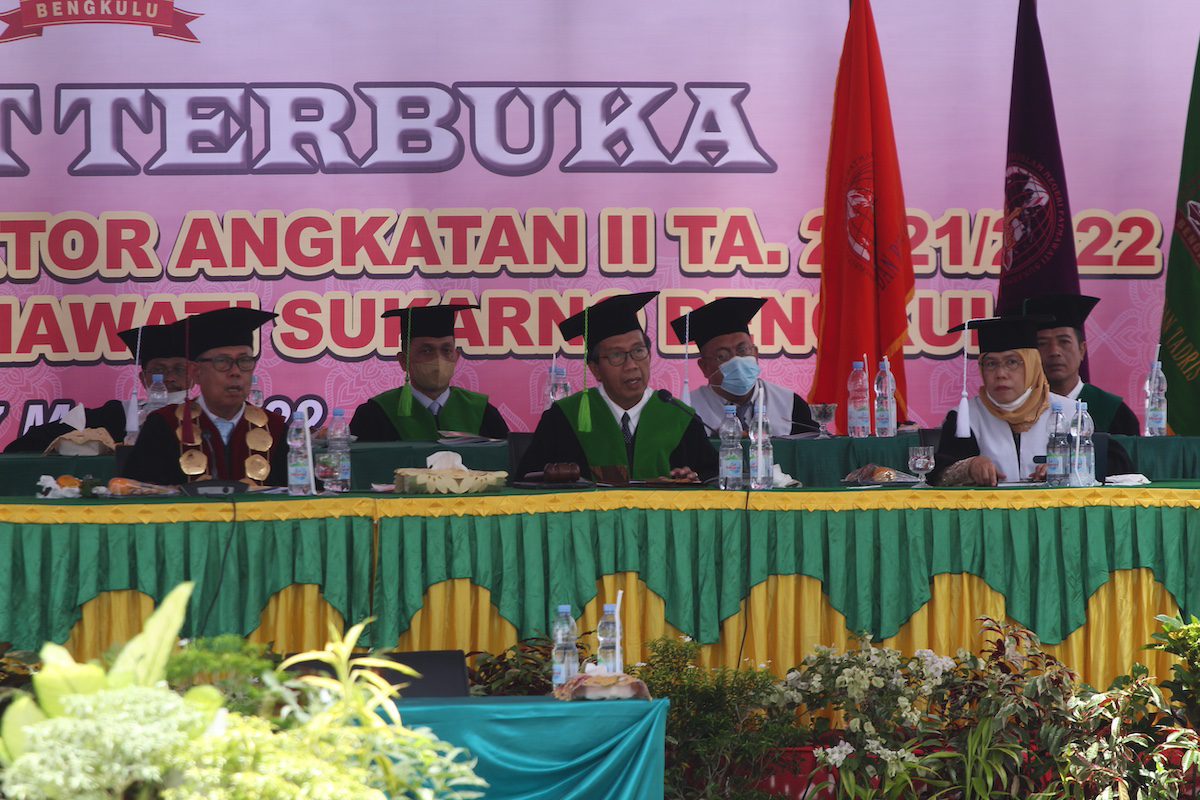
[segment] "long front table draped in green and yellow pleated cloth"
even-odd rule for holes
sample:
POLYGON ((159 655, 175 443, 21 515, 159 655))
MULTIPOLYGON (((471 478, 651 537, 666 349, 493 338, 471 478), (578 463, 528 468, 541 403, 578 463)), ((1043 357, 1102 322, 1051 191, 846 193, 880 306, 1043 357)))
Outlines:
POLYGON ((96 655, 191 579, 185 636, 296 650, 372 615, 377 646, 497 651, 544 633, 558 603, 593 631, 624 590, 629 660, 662 634, 780 674, 853 632, 954 652, 988 614, 1103 685, 1135 660, 1164 674, 1141 650, 1154 615, 1200 609, 1198 487, 10 499, 0 642, 96 655), (142 604, 113 600, 130 590, 142 604))

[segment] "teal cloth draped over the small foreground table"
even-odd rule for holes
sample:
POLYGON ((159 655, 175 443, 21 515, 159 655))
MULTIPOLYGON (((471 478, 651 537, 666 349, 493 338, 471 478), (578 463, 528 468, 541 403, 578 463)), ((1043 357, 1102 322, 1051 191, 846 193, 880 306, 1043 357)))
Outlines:
POLYGON ((400 712, 469 750, 488 800, 661 800, 667 708, 498 697, 403 700, 400 712))

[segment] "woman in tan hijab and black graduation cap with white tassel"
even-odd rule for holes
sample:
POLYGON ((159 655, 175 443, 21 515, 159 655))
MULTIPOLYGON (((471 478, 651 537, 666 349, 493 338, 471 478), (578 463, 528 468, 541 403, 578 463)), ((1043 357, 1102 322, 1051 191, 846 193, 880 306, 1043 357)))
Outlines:
POLYGON ((942 486, 996 486, 1001 481, 1045 480, 1050 407, 1070 401, 1050 391, 1037 326, 1042 318, 971 320, 952 330, 979 333, 979 393, 950 411, 929 476, 942 486), (967 414, 964 414, 964 410, 967 414), (959 420, 959 416, 965 417, 959 420))

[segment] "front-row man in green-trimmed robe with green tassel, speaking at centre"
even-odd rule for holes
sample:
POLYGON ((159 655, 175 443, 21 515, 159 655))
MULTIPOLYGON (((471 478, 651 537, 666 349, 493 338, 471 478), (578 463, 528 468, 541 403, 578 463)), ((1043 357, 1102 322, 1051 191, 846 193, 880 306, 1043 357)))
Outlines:
POLYGON ((617 295, 559 323, 564 339, 584 337, 588 369, 600 385, 546 409, 520 476, 548 463, 575 463, 582 477, 608 482, 716 475, 716 451, 696 411, 649 386, 650 341, 637 312, 656 295, 617 295))

